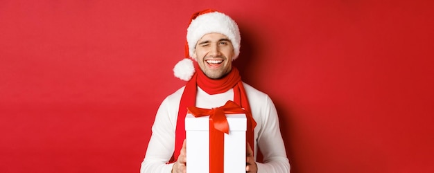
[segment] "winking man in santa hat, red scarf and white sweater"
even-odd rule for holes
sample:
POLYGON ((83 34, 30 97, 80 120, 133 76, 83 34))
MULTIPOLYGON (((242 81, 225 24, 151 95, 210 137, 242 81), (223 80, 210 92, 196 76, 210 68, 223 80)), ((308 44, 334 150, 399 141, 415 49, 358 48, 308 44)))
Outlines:
POLYGON ((242 82, 238 70, 232 66, 241 43, 235 21, 215 10, 196 12, 186 39, 186 57, 193 60, 185 58, 173 71, 177 78, 188 82, 160 105, 141 172, 186 172, 186 107, 211 109, 227 100, 236 102, 253 118, 252 125, 248 125, 246 172, 289 172, 272 100, 242 82), (264 163, 255 162, 258 147, 264 163))

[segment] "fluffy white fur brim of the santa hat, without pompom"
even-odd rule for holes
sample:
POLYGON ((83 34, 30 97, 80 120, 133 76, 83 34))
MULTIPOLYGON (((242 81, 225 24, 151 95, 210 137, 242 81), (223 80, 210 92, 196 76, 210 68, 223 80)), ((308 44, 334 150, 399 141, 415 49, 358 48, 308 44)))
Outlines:
POLYGON ((240 30, 233 19, 221 12, 209 12, 199 15, 191 21, 189 28, 187 28, 186 36, 190 57, 193 57, 199 39, 209 33, 226 35, 232 42, 232 46, 234 46, 234 57, 232 57, 232 60, 238 57, 241 43, 240 30))

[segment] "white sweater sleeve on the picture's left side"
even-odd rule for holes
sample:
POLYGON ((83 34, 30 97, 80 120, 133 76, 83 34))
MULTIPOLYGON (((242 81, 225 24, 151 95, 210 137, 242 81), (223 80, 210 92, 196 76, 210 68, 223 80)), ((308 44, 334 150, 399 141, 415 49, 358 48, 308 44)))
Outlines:
POLYGON ((141 173, 172 171, 173 163, 166 164, 175 149, 176 120, 170 116, 173 114, 170 104, 169 99, 166 98, 157 111, 146 156, 141 163, 141 173))

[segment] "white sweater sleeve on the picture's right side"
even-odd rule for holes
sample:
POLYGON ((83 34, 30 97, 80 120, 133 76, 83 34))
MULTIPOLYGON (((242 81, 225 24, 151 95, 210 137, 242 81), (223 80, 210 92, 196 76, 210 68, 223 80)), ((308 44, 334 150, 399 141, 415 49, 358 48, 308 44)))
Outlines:
POLYGON ((263 113, 263 125, 257 139, 257 145, 263 154, 263 163, 257 163, 258 173, 290 172, 284 140, 281 138, 279 118, 275 105, 268 95, 263 113))

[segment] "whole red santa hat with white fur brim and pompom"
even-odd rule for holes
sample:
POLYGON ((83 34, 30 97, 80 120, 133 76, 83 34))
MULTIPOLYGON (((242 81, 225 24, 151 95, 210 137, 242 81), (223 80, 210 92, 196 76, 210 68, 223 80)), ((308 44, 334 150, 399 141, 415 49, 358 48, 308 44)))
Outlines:
POLYGON ((191 57, 193 57, 196 44, 200 38, 209 33, 220 33, 229 38, 232 46, 234 46, 234 57, 232 57, 232 60, 238 57, 240 54, 241 36, 235 21, 222 12, 209 9, 202 10, 191 16, 189 28, 187 28, 185 58, 173 68, 175 77, 185 81, 191 79, 195 73, 193 60, 196 59, 191 60, 191 57))

